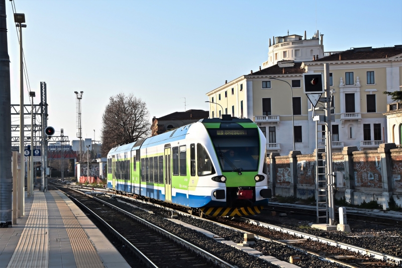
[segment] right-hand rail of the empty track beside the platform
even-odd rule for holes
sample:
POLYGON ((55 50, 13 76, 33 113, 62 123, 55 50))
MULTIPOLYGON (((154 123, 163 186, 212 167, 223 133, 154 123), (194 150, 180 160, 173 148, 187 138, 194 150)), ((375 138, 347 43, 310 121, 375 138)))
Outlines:
POLYGON ((186 247, 186 248, 196 252, 197 254, 203 256, 204 258, 212 261, 213 263, 215 263, 216 265, 219 265, 220 267, 223 267, 223 268, 236 268, 237 267, 237 266, 234 266, 234 265, 224 261, 223 259, 218 258, 217 256, 214 256, 213 254, 205 251, 204 249, 199 248, 199 247, 197 247, 197 246, 185 241, 184 239, 181 239, 180 237, 178 237, 178 236, 176 236, 176 235, 174 235, 174 234, 172 234, 172 233, 170 233, 170 232, 168 232, 168 231, 166 231, 166 230, 164 230, 164 229, 162 229, 162 228, 160 228, 160 227, 158 227, 158 226, 156 226, 156 225, 154 225, 154 224, 152 224, 152 223, 150 223, 150 222, 148 222, 148 221, 146 221, 144 219, 141 219, 140 217, 138 217, 138 216, 136 216, 134 214, 131 214, 130 212, 127 212, 127 211, 125 211, 125 210, 123 210, 123 209, 121 209, 121 208, 119 208, 119 207, 117 207, 115 205, 112 205, 112 204, 110 204, 110 203, 108 203, 106 201, 103 201, 102 199, 98 199, 98 198, 96 198, 94 196, 82 193, 81 191, 78 191, 78 190, 75 190, 75 189, 71 189, 71 190, 74 191, 74 192, 77 192, 77 193, 79 193, 81 195, 85 195, 85 196, 87 196, 89 198, 92 198, 92 199, 98 201, 99 203, 105 204, 105 205, 107 205, 107 206, 119 211, 120 213, 122 213, 124 215, 127 215, 130 218, 141 222, 142 224, 144 224, 144 225, 152 228, 153 230, 165 235, 166 237, 169 237, 171 240, 179 243, 180 245, 183 245, 184 247, 186 247))

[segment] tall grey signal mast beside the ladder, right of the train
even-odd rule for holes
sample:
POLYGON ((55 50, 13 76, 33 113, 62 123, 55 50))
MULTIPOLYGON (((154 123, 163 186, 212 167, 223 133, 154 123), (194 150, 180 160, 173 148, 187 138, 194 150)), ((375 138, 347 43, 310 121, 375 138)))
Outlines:
POLYGON ((327 184, 328 184, 328 214, 329 224, 335 224, 335 206, 334 206, 334 176, 332 172, 332 131, 331 131, 331 91, 330 91, 330 65, 324 63, 324 84, 325 84, 325 97, 327 102, 325 103, 325 135, 327 154, 325 156, 327 166, 327 184))

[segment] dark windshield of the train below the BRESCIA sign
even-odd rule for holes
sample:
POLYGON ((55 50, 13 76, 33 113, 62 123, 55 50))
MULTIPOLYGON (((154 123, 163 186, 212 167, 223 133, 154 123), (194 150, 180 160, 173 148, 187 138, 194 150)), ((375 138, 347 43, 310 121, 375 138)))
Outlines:
POLYGON ((208 129, 222 171, 257 171, 260 139, 257 128, 208 129))

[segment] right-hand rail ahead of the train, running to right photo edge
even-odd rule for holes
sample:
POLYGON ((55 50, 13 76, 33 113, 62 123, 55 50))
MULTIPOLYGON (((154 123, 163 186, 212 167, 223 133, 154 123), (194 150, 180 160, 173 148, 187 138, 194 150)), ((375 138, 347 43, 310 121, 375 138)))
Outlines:
POLYGON ((286 233, 286 234, 311 239, 313 241, 318 241, 318 242, 321 242, 321 243, 324 243, 324 244, 327 244, 327 245, 336 246, 336 247, 346 249, 346 250, 349 250, 349 251, 354 251, 354 252, 360 253, 362 255, 368 255, 368 256, 376 258, 376 259, 385 260, 385 261, 392 261, 392 262, 395 262, 395 263, 397 263, 399 265, 402 264, 402 258, 392 256, 392 255, 389 255, 389 254, 386 254, 386 253, 382 253, 382 252, 379 252, 379 251, 375 251, 375 250, 363 248, 363 247, 360 247, 360 246, 355 246, 355 245, 352 245, 352 244, 347 244, 347 243, 335 241, 335 240, 325 238, 325 237, 322 237, 322 236, 317 236, 317 235, 313 235, 313 234, 309 234, 309 233, 305 233, 305 232, 300 232, 300 231, 292 230, 292 229, 289 229, 289 228, 284 228, 284 227, 280 227, 280 226, 277 226, 277 225, 264 223, 264 222, 244 218, 244 217, 240 217, 240 219, 242 221, 244 221, 244 222, 254 224, 256 226, 262 226, 264 228, 272 229, 274 231, 279 231, 279 232, 283 232, 283 233, 286 233))

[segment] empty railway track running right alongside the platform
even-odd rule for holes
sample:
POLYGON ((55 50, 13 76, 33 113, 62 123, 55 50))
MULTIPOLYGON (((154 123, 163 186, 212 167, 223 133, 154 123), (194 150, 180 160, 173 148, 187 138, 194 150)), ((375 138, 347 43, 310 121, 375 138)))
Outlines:
MULTIPOLYGON (((60 189, 59 189, 60 190, 60 189)), ((63 191, 78 206, 113 232, 147 267, 235 266, 213 254, 96 197, 63 191), (103 204, 103 206, 99 206, 103 204), (116 211, 120 213, 116 213, 116 211)))

